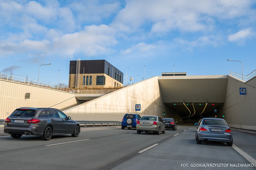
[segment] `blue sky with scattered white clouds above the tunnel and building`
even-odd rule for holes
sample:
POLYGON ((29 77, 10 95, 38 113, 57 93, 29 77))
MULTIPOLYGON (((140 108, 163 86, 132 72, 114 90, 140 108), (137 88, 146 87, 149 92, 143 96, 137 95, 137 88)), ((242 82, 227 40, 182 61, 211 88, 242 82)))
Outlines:
MULTIPOLYGON (((256 1, 0 0, 0 72, 68 84, 70 60, 105 59, 134 81, 256 69, 256 1), (59 71, 60 70, 60 71, 59 71)), ((124 78, 125 84, 125 78, 124 78)))

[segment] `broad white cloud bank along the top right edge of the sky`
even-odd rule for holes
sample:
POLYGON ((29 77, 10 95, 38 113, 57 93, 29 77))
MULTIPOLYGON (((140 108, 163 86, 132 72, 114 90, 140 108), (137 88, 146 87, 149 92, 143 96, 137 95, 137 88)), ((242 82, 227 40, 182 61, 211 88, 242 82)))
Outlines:
POLYGON ((121 31, 135 31, 151 23, 151 31, 155 33, 206 31, 213 28, 213 18, 223 20, 248 16, 252 3, 250 0, 130 0, 112 26, 121 31))

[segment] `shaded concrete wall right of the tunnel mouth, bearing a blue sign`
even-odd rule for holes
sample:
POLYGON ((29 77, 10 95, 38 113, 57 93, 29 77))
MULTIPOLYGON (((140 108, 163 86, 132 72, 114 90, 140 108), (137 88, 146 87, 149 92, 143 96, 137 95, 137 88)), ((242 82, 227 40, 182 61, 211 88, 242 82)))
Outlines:
POLYGON ((218 117, 224 114, 230 127, 256 130, 256 77, 244 83, 229 76, 225 103, 219 110, 218 117), (240 95, 240 87, 246 88, 246 95, 240 95))

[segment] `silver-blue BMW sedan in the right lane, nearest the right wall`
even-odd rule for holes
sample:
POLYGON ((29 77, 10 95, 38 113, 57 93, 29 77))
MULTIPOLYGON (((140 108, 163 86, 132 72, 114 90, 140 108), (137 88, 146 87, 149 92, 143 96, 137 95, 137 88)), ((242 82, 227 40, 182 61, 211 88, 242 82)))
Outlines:
POLYGON ((202 118, 200 123, 195 123, 197 144, 203 140, 226 142, 228 146, 233 145, 233 136, 230 127, 224 119, 202 118))

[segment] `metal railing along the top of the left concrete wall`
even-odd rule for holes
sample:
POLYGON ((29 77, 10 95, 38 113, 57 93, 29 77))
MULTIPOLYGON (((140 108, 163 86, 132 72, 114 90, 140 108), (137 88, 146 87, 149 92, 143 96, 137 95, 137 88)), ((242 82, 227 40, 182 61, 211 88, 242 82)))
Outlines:
POLYGON ((1 73, 0 79, 13 81, 13 82, 17 82, 17 83, 33 85, 33 86, 37 86, 37 87, 44 87, 44 88, 48 88, 48 89, 66 91, 66 92, 70 92, 70 93, 73 92, 73 89, 70 89, 70 88, 67 88, 67 87, 62 87, 62 86, 58 86, 56 84, 45 83, 45 82, 40 82, 40 81, 36 81, 36 80, 21 78, 21 77, 12 76, 12 75, 8 75, 8 74, 4 74, 4 73, 1 73))

